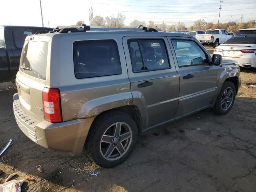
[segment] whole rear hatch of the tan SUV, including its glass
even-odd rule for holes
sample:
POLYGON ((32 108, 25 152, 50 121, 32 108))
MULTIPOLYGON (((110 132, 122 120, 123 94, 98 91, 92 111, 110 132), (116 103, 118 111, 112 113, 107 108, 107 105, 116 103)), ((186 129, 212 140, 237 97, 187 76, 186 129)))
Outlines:
POLYGON ((22 48, 16 86, 20 104, 30 117, 44 120, 42 91, 46 84, 48 42, 28 36, 22 48))

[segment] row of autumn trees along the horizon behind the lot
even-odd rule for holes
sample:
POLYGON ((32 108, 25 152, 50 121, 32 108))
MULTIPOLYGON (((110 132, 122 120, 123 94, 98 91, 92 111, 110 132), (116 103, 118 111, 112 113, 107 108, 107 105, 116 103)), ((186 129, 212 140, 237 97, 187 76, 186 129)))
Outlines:
MULTIPOLYGON (((125 15, 122 13, 118 13, 116 16, 110 16, 103 18, 102 16, 95 16, 92 20, 90 25, 92 26, 104 26, 104 27, 138 27, 140 25, 147 26, 148 28, 155 28, 158 31, 180 31, 180 30, 208 30, 208 29, 226 29, 229 32, 236 32, 239 29, 243 28, 255 28, 256 27, 256 20, 250 20, 248 22, 227 22, 227 23, 213 23, 213 22, 206 22, 204 19, 198 19, 194 22, 192 26, 186 28, 184 22, 179 21, 175 25, 167 25, 164 21, 161 24, 156 24, 154 21, 149 21, 146 23, 145 21, 141 20, 133 20, 130 22, 129 25, 125 25, 125 15)), ((76 25, 84 24, 84 21, 78 21, 76 25)))

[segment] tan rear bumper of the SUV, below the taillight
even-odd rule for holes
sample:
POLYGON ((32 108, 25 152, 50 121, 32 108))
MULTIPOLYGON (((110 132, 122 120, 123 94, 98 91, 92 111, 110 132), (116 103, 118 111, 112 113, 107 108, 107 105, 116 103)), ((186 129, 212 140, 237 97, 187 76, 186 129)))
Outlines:
POLYGON ((28 138, 45 148, 81 154, 94 117, 60 123, 38 122, 24 112, 18 94, 14 94, 13 99, 16 122, 28 138))

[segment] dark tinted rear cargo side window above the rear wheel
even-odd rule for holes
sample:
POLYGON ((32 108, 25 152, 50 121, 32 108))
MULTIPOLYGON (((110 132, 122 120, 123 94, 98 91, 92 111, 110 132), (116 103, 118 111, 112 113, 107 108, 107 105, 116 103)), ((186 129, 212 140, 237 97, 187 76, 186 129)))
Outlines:
POLYGON ((76 41, 73 44, 76 78, 122 73, 118 47, 114 40, 76 41))

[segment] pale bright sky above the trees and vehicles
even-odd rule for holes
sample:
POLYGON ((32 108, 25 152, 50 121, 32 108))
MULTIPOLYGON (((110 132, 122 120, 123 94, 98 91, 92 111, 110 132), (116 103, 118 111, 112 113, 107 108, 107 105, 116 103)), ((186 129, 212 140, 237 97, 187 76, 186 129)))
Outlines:
MULTIPOLYGON (((104 18, 121 12, 125 25, 134 19, 150 20, 167 25, 194 21, 218 23, 220 0, 41 0, 44 26, 69 26, 77 21, 89 21, 89 8, 93 16, 104 18)), ((0 25, 42 26, 39 0, 2 0, 0 25)), ((223 0, 220 22, 256 19, 256 0, 223 0)))

